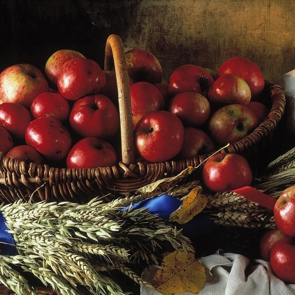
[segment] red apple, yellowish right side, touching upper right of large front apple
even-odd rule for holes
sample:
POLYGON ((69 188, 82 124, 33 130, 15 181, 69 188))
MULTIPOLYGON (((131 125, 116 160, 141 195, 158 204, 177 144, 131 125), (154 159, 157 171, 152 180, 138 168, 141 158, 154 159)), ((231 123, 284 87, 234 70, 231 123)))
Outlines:
POLYGON ((184 126, 200 127, 207 122, 211 107, 202 94, 181 92, 172 97, 168 110, 175 114, 184 126))

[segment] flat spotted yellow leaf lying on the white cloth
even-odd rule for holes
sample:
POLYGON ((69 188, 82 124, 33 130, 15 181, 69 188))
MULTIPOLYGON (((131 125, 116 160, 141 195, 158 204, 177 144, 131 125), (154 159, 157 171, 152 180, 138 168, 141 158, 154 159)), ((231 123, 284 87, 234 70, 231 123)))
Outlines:
POLYGON ((151 283, 158 292, 173 295, 180 292, 198 294, 205 281, 205 268, 195 259, 194 253, 174 251, 163 258, 151 283))

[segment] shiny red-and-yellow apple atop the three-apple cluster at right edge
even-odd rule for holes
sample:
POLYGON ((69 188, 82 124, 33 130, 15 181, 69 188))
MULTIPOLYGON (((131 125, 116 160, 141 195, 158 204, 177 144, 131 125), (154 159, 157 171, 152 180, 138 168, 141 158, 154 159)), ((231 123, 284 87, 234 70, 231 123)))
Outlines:
POLYGON ((273 207, 273 217, 278 229, 295 237, 295 186, 285 189, 273 207))

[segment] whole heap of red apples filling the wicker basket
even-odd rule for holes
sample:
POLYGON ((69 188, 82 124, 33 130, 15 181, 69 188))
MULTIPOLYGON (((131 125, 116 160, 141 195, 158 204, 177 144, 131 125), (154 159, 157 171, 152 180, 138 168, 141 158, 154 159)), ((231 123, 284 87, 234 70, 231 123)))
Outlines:
MULTIPOLYGON (((158 59, 125 52, 137 161, 193 158, 248 135, 269 109, 257 65, 234 57, 214 73, 181 65, 163 82, 158 59)), ((51 55, 44 74, 30 64, 0 73, 0 150, 26 163, 67 168, 119 159, 116 73, 74 50, 51 55)))

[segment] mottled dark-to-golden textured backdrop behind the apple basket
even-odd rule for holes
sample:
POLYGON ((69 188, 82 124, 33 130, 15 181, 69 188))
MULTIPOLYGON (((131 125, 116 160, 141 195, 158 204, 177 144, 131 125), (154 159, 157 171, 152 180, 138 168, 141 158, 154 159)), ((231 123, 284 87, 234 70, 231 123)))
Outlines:
POLYGON ((0 70, 28 62, 43 68, 55 50, 72 48, 103 65, 109 34, 127 49, 160 60, 165 80, 179 65, 216 70, 226 59, 249 58, 271 81, 295 68, 294 1, 1 0, 0 70))

